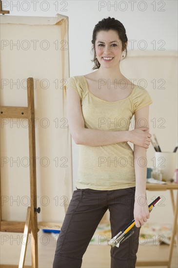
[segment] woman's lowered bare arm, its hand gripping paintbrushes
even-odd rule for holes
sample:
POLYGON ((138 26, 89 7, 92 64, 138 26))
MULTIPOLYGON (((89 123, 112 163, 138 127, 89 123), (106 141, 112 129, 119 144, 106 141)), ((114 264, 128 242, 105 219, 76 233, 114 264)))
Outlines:
MULTIPOLYGON (((135 129, 141 127, 149 128, 149 105, 135 112, 135 129)), ((149 132, 149 129, 146 132, 149 132)), ((149 146, 150 142, 146 141, 146 144, 149 146)), ((134 144, 134 166, 136 175, 134 219, 136 227, 144 225, 144 223, 150 217, 146 200, 146 150, 147 149, 134 144)))

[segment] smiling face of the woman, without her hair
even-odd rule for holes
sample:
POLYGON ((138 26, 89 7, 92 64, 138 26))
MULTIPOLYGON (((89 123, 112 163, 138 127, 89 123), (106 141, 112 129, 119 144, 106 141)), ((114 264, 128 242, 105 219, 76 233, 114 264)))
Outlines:
POLYGON ((114 30, 99 31, 95 42, 96 56, 101 66, 118 65, 122 55, 122 43, 114 30), (106 60, 103 57, 112 57, 106 60))

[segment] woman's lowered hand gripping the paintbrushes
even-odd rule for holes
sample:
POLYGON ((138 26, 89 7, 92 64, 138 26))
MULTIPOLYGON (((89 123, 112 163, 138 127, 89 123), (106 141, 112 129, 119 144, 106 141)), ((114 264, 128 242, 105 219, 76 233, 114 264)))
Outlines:
POLYGON ((148 209, 146 196, 145 195, 136 195, 135 204, 134 204, 134 219, 136 227, 140 227, 147 222, 147 219, 150 217, 150 211, 148 209))

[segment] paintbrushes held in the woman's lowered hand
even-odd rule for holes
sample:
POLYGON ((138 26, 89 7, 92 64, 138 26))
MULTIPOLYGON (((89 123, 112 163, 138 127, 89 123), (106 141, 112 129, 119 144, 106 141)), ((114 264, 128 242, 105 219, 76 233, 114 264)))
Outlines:
MULTIPOLYGON (((149 211, 151 212, 153 207, 160 201, 160 196, 158 196, 149 206, 149 211)), ((115 237, 113 237, 108 244, 113 248, 119 248, 119 244, 129 238, 133 233, 133 227, 135 226, 135 219, 132 220, 127 226, 125 226, 115 237)))

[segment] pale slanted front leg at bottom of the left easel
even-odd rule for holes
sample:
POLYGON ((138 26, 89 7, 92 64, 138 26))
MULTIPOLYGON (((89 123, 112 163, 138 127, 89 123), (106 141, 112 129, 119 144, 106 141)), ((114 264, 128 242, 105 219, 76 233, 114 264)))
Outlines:
POLYGON ((23 232, 23 244, 21 246, 21 252, 20 252, 19 268, 23 268, 24 263, 25 263, 25 255, 26 255, 27 242, 28 242, 28 237, 29 237, 30 221, 31 221, 31 208, 28 207, 25 227, 24 227, 24 232, 23 232))

